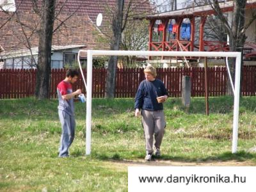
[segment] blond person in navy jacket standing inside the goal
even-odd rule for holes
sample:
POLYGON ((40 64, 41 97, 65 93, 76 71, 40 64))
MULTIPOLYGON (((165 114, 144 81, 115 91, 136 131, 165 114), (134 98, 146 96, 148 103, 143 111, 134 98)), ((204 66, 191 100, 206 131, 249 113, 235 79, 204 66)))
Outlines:
POLYGON ((145 160, 150 161, 153 153, 153 141, 156 148, 155 155, 160 156, 160 146, 164 136, 163 102, 168 99, 168 92, 162 81, 156 79, 156 68, 147 67, 144 70, 145 80, 140 83, 135 96, 135 116, 141 110, 142 125, 146 142, 145 160))

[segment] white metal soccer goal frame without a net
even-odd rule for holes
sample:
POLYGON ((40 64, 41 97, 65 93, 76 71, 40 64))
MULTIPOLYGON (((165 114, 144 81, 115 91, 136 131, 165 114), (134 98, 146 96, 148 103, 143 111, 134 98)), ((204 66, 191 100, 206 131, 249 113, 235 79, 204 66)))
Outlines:
MULTIPOLYGON (((80 50, 78 52, 78 63, 86 88, 86 155, 91 153, 91 129, 92 129, 92 60, 93 56, 173 56, 173 57, 222 57, 236 58, 236 68, 241 68, 241 52, 199 52, 199 51, 103 51, 103 50, 80 50), (83 70, 79 61, 81 52, 87 52, 87 81, 84 79, 83 70), (87 82, 87 83, 86 83, 87 82)), ((227 66, 228 68, 228 66, 227 66)), ((229 68, 228 68, 229 71, 229 68)), ((232 153, 237 152, 238 140, 238 118, 239 118, 239 90, 240 70, 236 70, 236 81, 234 90, 234 116, 232 132, 232 153)))

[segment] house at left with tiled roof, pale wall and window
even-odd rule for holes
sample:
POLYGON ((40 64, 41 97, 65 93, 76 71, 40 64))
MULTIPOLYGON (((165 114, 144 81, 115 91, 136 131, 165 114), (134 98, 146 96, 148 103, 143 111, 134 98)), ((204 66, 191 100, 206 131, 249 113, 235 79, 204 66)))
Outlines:
MULTIPOLYGON (((134 8, 136 12, 145 12, 150 8, 149 3, 145 3, 147 1, 134 2, 135 5, 132 6, 136 7, 134 8)), ((0 10, 0 43, 3 48, 0 52, 0 61, 4 61, 2 68, 35 67, 38 54, 36 29, 40 24, 36 12, 40 10, 40 6, 35 6, 33 1, 29 0, 3 0, 0 3, 3 10, 9 11, 9 14, 6 14, 0 10)), ((56 1, 57 17, 54 20, 56 31, 52 37, 52 68, 63 68, 67 64, 76 63, 79 49, 109 49, 106 36, 102 33, 106 31, 104 29, 106 25, 103 24, 99 28, 95 22, 99 13, 103 13, 104 20, 109 20, 108 10, 114 5, 115 0, 56 1)), ((85 56, 82 61, 86 63, 85 56)))

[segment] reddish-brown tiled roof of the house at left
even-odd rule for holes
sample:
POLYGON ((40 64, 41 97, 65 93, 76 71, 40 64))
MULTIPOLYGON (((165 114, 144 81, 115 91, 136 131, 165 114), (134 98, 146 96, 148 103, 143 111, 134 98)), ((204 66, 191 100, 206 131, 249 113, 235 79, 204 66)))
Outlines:
MULTIPOLYGON (((38 0, 38 2, 40 4, 42 0, 38 0)), ((54 33, 52 45, 84 44, 86 49, 109 49, 109 45, 106 42, 100 42, 103 35, 95 26, 95 20, 97 15, 102 13, 103 19, 105 17, 105 21, 109 21, 111 18, 109 16, 106 18, 106 15, 108 15, 106 9, 110 8, 111 10, 115 2, 116 0, 57 0, 56 13, 60 12, 60 15, 54 21, 54 26, 58 26, 60 20, 65 20, 68 15, 74 15, 65 22, 65 25, 58 30, 58 33, 54 33), (64 6, 63 3, 65 3, 64 6)), ((129 0, 125 0, 125 2, 129 2, 129 0)), ((33 13, 33 1, 15 0, 15 4, 21 21, 27 26, 35 28, 39 19, 35 12, 33 13)), ((132 6, 134 12, 144 13, 150 10, 150 4, 146 0, 134 0, 132 6)), ((0 11, 0 26, 6 20, 8 20, 8 15, 0 11)), ((111 29, 111 26, 106 26, 108 25, 107 23, 109 22, 105 22, 102 31, 106 32, 108 28, 111 29)), ((31 30, 28 28, 24 28, 24 31, 28 36, 31 35, 31 30)), ((28 46, 21 26, 15 22, 14 18, 1 28, 0 39, 5 51, 13 51, 28 46)), ((29 37, 29 44, 29 47, 38 46, 38 35, 36 33, 29 37)))

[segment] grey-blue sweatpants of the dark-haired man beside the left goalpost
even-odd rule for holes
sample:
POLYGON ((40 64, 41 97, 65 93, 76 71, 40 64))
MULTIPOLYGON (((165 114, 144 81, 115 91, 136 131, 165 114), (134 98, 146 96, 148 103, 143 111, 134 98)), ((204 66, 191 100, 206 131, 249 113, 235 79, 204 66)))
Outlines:
POLYGON ((68 157, 68 148, 74 141, 76 121, 74 115, 69 115, 67 112, 58 110, 61 122, 61 139, 59 148, 59 157, 68 157))

